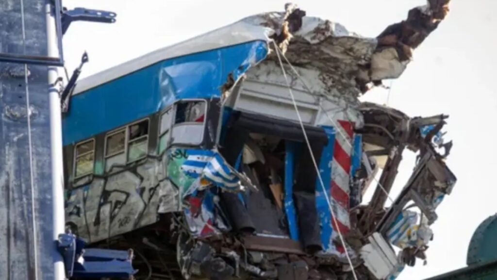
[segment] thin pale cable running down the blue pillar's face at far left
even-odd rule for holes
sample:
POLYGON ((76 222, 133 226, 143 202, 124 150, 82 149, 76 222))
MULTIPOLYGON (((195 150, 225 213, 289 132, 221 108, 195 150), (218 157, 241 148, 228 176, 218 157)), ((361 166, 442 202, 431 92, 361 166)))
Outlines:
MULTIPOLYGON (((26 27, 24 24, 24 0, 21 0, 21 21, 22 21, 22 46, 23 53, 26 54, 26 27)), ((28 153, 29 153, 29 179, 31 187, 31 222, 33 224, 33 259, 34 259, 34 279, 38 279, 38 252, 36 241, 38 240, 36 231, 36 216, 35 216, 35 192, 34 192, 34 176, 33 176, 33 147, 31 141, 31 110, 29 108, 29 86, 28 86, 28 66, 24 64, 24 84, 26 86, 26 117, 28 125, 28 153)))

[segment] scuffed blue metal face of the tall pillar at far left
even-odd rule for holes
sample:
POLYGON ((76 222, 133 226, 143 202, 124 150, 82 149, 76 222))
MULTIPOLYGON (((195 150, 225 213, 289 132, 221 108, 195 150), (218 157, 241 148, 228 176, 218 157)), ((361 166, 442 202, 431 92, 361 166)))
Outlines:
MULTIPOLYGON (((46 56, 46 1, 23 3, 21 7, 21 1, 0 1, 0 50, 46 56)), ((52 227, 47 67, 27 65, 27 79, 24 67, 0 62, 0 279, 53 280, 59 253, 52 227)))

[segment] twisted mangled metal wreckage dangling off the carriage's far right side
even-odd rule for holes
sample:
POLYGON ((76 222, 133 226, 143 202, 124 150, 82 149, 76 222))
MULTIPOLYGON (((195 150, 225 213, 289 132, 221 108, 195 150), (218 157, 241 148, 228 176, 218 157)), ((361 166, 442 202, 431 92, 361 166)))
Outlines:
MULTIPOLYGON (((402 112, 379 105, 366 103, 361 107, 365 122, 361 132, 365 142, 379 147, 368 149, 366 153, 386 156, 388 160, 380 178, 381 187, 377 187, 370 204, 364 209, 359 226, 362 233, 367 235, 371 229, 368 230, 364 222, 371 222, 375 225, 375 231, 402 249, 399 263, 414 266, 416 258, 426 259, 424 252, 433 237, 428 225, 436 220, 436 207, 451 192, 456 182, 455 176, 444 163, 445 155, 435 151, 435 148, 445 145, 440 130, 446 117, 410 118, 402 112), (399 150, 402 151, 404 147, 420 152, 416 167, 392 206, 382 209, 387 198, 385 189, 389 191, 392 186, 400 163, 399 150), (412 206, 417 206, 421 211, 420 221, 417 213, 407 210, 412 206), (381 213, 380 219, 377 213, 381 213)), ((398 266, 387 279, 395 279, 402 268, 403 265, 398 266)))

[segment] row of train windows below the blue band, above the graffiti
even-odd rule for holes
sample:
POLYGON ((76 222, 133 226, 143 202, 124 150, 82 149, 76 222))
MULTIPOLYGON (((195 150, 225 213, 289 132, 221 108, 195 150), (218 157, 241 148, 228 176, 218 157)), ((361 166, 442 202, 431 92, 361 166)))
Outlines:
MULTIPOLYGON (((162 153, 169 144, 169 132, 173 125, 181 123, 198 124, 201 125, 201 130, 199 130, 199 132, 203 130, 202 127, 206 113, 206 105, 205 101, 183 101, 177 103, 175 106, 171 106, 161 115, 159 128, 159 153, 162 153), (173 115, 175 115, 174 118, 172 117, 173 115)), ((192 138, 190 133, 181 133, 179 138, 181 138, 181 136, 187 137, 188 139, 195 138, 192 138)), ((200 137, 201 142, 202 135, 197 137, 200 137)), ((184 141, 179 139, 179 143, 200 144, 196 143, 198 141, 188 142, 188 139, 185 139, 184 141)), ((148 153, 148 140, 149 119, 144 119, 109 132, 105 136, 105 172, 110 171, 113 165, 125 165, 146 157, 148 153)), ((95 140, 90 139, 78 143, 75 146, 74 159, 75 178, 81 178, 93 174, 95 140)))

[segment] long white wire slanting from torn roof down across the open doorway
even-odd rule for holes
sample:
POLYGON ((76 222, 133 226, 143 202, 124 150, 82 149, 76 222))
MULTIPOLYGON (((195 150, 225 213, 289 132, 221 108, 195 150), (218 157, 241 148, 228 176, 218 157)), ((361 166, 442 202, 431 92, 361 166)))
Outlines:
POLYGON ((300 127, 302 129, 302 132, 304 134, 304 138, 305 138, 306 143, 307 143, 307 148, 309 149, 309 153, 311 154, 311 159, 312 159, 312 162, 314 164, 314 168, 316 169, 316 173, 318 174, 318 178, 319 178, 319 181, 321 183, 321 187, 323 188, 323 193, 325 194, 325 198, 326 198, 326 201, 328 203, 328 207, 330 208, 331 218, 333 219, 333 223, 335 224, 336 231, 338 232, 338 236, 340 238, 340 242, 341 242, 343 248, 345 249, 344 250, 345 256, 347 257, 348 264, 350 265, 352 275, 353 275, 355 280, 358 280, 357 275, 355 274, 355 269, 354 269, 354 266, 352 264, 352 260, 350 259, 350 256, 348 254, 347 245, 345 244, 345 240, 343 239, 343 236, 340 232, 338 222, 336 221, 335 213, 333 212, 333 208, 331 206, 330 197, 328 195, 328 192, 326 191, 325 184, 323 183, 323 178, 321 177, 321 173, 319 172, 318 164, 316 162, 316 158, 314 157, 311 143, 309 142, 309 139, 307 137, 307 132, 306 132, 306 129, 304 127, 304 123, 302 122, 302 117, 300 116, 299 108, 297 107, 297 102, 295 101, 295 96, 293 95, 292 89, 290 87, 290 83, 288 82, 288 77, 286 76, 286 71, 285 71, 285 68, 283 67, 283 62, 281 61, 281 57, 280 57, 280 53, 281 53, 280 49, 274 40, 272 42, 274 44, 274 48, 276 49, 276 55, 278 56, 278 61, 279 61, 280 66, 281 66, 281 71, 283 72, 283 77, 285 78, 286 84, 288 86, 288 92, 290 93, 290 96, 292 97, 293 106, 295 108, 295 112, 297 113, 297 118, 299 119, 300 127))

